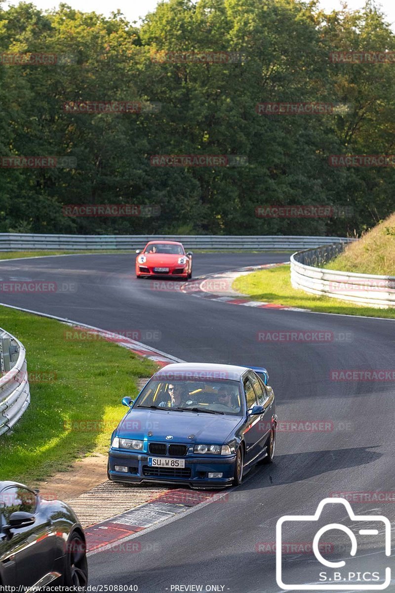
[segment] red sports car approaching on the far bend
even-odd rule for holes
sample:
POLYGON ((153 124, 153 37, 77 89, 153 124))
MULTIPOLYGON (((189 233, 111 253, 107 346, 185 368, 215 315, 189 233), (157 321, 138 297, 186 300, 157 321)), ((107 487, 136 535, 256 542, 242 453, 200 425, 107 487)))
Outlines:
POLYGON ((143 251, 136 250, 136 276, 192 278, 192 251, 185 253, 178 241, 149 241, 143 251))

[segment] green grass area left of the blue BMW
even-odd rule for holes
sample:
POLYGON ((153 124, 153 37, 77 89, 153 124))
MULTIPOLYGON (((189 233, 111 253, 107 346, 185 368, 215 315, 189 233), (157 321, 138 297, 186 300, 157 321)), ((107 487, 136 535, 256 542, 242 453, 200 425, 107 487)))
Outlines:
POLYGON ((92 452, 107 451, 111 432, 136 396, 136 380, 157 366, 104 340, 68 340, 70 327, 0 307, 0 326, 27 350, 31 404, 14 433, 0 436, 0 480, 34 484, 92 452))

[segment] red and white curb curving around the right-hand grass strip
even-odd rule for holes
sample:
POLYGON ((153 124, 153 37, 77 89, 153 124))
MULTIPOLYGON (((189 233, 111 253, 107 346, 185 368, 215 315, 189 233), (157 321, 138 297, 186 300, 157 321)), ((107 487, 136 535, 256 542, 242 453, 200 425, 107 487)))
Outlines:
POLYGON ((245 295, 236 292, 232 288, 233 280, 239 276, 245 276, 256 270, 264 270, 271 267, 285 266, 290 262, 268 263, 261 266, 240 267, 223 273, 213 273, 200 276, 181 286, 181 292, 192 297, 207 298, 210 301, 226 302, 229 305, 244 305, 245 307, 256 307, 258 309, 281 309, 284 311, 309 311, 298 307, 287 307, 274 302, 253 301, 245 295))

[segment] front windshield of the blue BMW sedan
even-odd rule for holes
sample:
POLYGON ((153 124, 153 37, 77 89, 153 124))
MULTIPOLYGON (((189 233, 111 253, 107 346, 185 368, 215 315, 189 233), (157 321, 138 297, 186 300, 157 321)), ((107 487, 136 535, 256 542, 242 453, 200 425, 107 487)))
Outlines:
POLYGON ((223 412, 242 416, 242 400, 238 381, 155 381, 144 387, 137 406, 200 409, 202 412, 223 412))

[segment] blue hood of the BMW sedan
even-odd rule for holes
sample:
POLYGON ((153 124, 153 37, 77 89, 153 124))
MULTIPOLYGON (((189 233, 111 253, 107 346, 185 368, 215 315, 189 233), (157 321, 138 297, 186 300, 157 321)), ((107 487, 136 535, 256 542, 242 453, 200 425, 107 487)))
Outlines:
POLYGON ((197 412, 166 412, 133 408, 118 426, 117 436, 149 441, 223 444, 227 436, 242 421, 240 416, 205 414, 197 412), (194 435, 194 438, 188 436, 194 435))

